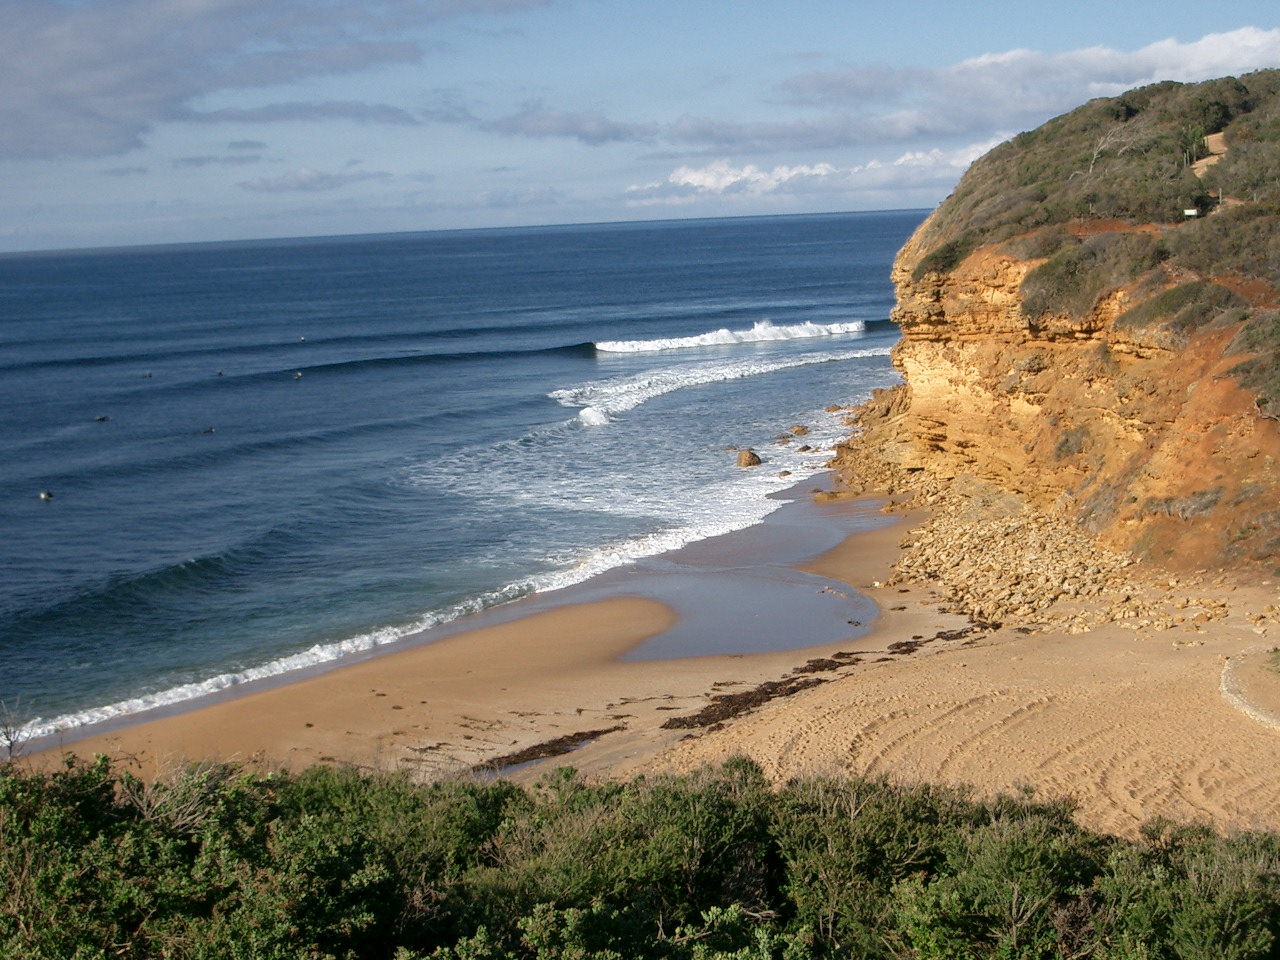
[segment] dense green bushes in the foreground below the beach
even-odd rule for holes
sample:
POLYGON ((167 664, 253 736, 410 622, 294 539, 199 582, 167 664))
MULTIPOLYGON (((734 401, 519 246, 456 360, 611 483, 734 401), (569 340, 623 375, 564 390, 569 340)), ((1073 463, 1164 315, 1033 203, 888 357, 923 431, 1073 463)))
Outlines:
POLYGON ((539 786, 0 767, 6 957, 1271 957, 1280 838, 759 768, 539 786))

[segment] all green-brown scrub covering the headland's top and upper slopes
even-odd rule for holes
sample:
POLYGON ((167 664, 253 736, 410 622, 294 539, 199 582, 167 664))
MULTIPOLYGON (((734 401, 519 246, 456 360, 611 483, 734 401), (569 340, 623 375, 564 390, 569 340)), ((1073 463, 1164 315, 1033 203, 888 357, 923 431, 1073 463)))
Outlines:
POLYGON ((1089 101, 977 160, 916 234, 915 279, 979 247, 1039 261, 1021 314, 1087 329, 1125 289, 1119 326, 1176 348, 1217 320, 1242 325, 1236 371, 1280 408, 1280 70, 1156 83, 1089 101), (1221 134, 1216 163, 1208 137, 1221 134), (1194 211, 1189 216, 1188 211, 1194 211))

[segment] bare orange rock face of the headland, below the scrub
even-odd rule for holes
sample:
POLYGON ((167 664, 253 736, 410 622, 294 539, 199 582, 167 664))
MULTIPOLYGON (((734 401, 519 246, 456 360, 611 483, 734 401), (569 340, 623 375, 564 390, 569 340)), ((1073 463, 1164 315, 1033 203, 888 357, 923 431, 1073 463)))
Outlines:
POLYGON ((1121 329, 1124 289, 1033 324, 1020 284, 1036 262, 984 247, 914 278, 919 257, 909 242, 893 270, 906 383, 861 415, 888 460, 995 483, 1171 568, 1280 567, 1280 421, 1230 375, 1238 324, 1178 343, 1121 329))

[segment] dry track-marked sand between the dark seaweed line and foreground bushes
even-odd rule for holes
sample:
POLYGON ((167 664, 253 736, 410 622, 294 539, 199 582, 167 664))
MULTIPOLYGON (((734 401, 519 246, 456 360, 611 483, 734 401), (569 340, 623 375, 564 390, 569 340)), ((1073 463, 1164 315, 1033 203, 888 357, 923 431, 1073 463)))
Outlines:
POLYGON ((983 791, 1029 786, 1074 797, 1082 823, 1125 836, 1155 815, 1276 829, 1280 675, 1256 653, 1265 648, 1254 630, 1239 614, 1190 631, 1005 627, 861 664, 786 707, 682 742, 662 763, 682 769, 746 753, 780 781, 849 772, 983 791), (1222 675, 1242 658, 1247 669, 1233 672, 1244 698, 1235 699, 1222 675))

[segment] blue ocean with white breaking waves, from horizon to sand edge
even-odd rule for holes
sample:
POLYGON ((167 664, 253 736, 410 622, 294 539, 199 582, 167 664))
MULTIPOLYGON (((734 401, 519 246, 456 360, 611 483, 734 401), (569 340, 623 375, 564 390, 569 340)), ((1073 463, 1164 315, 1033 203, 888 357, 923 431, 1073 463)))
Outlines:
POLYGON ((923 216, 0 256, 0 701, 47 733, 760 522, 896 380, 923 216))

